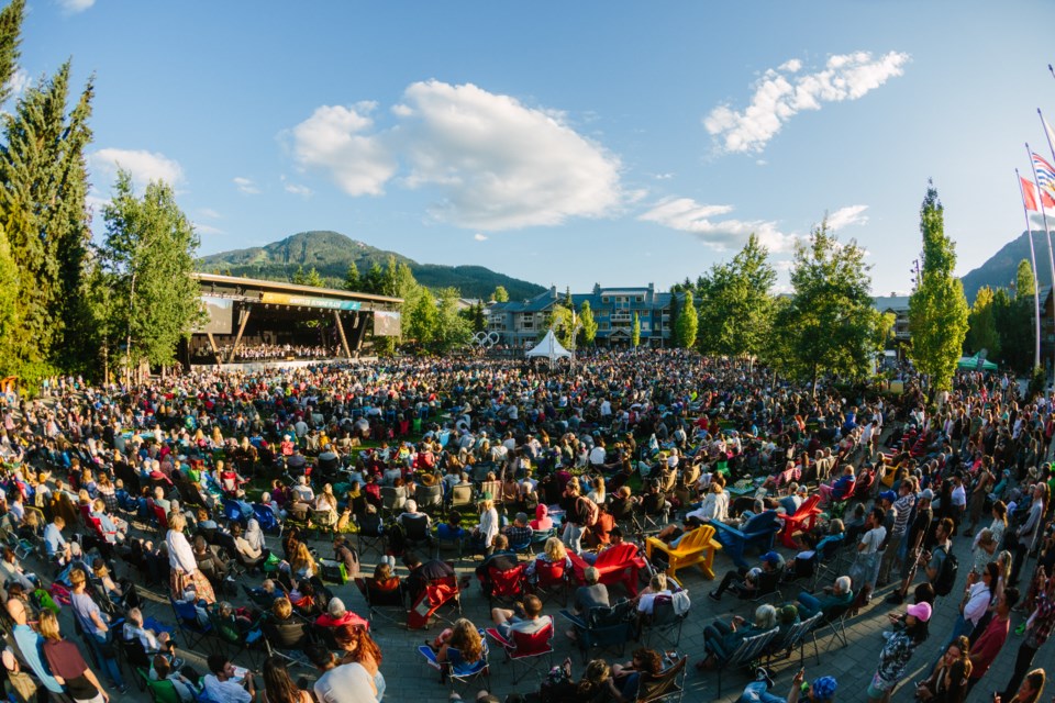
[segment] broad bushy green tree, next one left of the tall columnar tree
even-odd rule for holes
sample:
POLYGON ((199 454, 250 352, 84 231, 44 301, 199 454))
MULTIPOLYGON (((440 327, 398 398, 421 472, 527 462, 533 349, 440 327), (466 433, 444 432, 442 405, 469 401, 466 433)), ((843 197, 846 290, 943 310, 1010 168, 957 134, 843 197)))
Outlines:
POLYGON ((880 348, 882 316, 873 306, 865 252, 841 244, 828 219, 798 243, 791 269, 793 293, 778 305, 770 335, 771 361, 785 372, 817 382, 824 373, 865 376, 880 348))

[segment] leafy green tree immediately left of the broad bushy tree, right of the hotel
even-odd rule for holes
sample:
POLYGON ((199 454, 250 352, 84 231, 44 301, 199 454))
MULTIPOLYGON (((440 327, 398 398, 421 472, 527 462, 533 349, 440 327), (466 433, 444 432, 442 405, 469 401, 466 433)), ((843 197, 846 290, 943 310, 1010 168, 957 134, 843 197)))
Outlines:
POLYGON ((769 252, 752 234, 728 264, 700 277, 700 350, 728 356, 758 356, 773 327, 777 274, 769 252))

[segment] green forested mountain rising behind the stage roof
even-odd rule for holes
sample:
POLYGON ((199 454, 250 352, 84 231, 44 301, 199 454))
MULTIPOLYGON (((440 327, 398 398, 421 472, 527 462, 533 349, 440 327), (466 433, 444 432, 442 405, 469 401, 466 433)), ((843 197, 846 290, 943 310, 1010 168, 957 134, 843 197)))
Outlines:
POLYGON ((490 298, 495 288, 504 286, 510 300, 537 295, 542 286, 510 278, 482 266, 441 266, 419 264, 401 254, 369 246, 340 232, 301 232, 281 242, 248 249, 210 254, 198 260, 199 271, 222 272, 231 276, 288 281, 302 266, 314 267, 326 279, 327 286, 340 287, 348 265, 355 261, 359 275, 365 276, 375 263, 382 268, 388 257, 406 261, 422 286, 432 289, 457 288, 463 298, 490 298))

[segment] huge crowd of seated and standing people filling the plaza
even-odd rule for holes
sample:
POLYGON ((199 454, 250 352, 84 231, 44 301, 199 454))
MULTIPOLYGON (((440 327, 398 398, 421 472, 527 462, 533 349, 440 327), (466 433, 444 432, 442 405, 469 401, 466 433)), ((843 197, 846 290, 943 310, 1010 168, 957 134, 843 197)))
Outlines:
POLYGON ((52 379, 36 400, 2 401, 5 685, 107 701, 130 683, 123 660, 184 703, 380 701, 377 613, 420 627, 479 591, 499 603, 490 622, 456 613, 421 647, 444 677, 480 672, 488 641, 586 648, 601 625, 636 636, 692 600, 759 603, 708 624, 699 650, 642 646, 578 676, 566 661, 507 701, 648 700, 690 668, 759 660, 741 659, 745 643, 780 652, 886 607, 866 692, 800 671, 782 693, 758 667, 741 700, 879 702, 911 688, 963 703, 981 685, 1033 703, 1055 625, 1055 406, 1001 375, 960 373, 933 398, 900 376, 899 394, 812 392, 746 360, 649 350, 574 370, 397 359, 135 388, 52 379), (756 534, 757 558, 743 549, 756 534), (679 559, 712 540, 713 567, 728 568, 706 588, 679 578, 679 559), (368 610, 334 594, 346 580, 368 610), (562 626, 552 587, 570 592, 562 626), (170 607, 152 611, 151 594, 170 607), (958 610, 947 632, 931 627, 940 610, 958 610), (190 661, 196 637, 224 646, 190 661), (1004 647, 1013 673, 992 681, 1004 647), (236 666, 256 651, 258 671, 236 666), (924 658, 929 676, 907 680, 924 658))

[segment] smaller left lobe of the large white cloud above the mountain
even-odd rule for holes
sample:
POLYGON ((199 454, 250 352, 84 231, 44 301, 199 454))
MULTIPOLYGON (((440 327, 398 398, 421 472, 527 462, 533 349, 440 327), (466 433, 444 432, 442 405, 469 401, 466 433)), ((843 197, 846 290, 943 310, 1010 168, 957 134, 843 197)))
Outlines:
POLYGON ((380 196, 396 172, 396 159, 373 130, 370 103, 323 105, 292 130, 293 158, 329 172, 349 196, 380 196))

